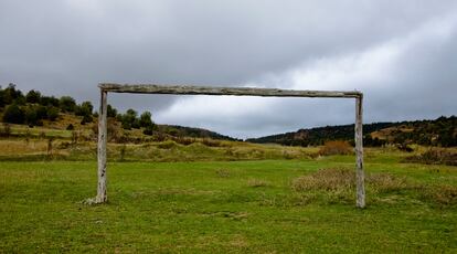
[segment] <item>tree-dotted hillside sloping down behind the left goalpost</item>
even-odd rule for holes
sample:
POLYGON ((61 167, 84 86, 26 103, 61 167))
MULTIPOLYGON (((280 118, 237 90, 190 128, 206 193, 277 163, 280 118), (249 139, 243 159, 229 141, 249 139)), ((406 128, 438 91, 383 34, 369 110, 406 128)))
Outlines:
MULTIPOLYGON (((149 136, 152 139, 174 138, 209 138, 220 140, 238 140, 208 129, 183 127, 176 125, 158 125, 152 120, 152 114, 138 114, 128 109, 121 114, 108 105, 108 133, 117 140, 138 140, 149 136)), ((29 127, 50 130, 75 130, 84 133, 87 139, 96 139, 97 112, 91 102, 77 102, 71 96, 42 95, 32 89, 23 93, 10 83, 0 86, 0 121, 15 125, 15 129, 29 127)), ((19 133, 18 133, 19 134, 19 133)))

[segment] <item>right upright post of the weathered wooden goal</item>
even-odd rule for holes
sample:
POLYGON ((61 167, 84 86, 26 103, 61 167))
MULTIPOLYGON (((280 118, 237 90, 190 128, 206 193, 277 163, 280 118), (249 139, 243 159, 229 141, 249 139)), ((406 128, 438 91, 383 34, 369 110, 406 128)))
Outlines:
POLYGON ((363 95, 355 97, 355 171, 357 171, 357 207, 365 207, 365 174, 363 172, 363 95))

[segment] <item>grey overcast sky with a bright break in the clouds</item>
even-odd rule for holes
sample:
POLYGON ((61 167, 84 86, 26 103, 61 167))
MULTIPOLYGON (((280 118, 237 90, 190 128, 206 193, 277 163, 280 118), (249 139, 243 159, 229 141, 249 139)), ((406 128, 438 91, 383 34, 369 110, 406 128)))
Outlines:
MULTIPOLYGON (((364 121, 457 114, 457 1, 0 1, 0 84, 98 104, 98 82, 359 89, 364 121)), ((235 137, 354 120, 352 99, 109 94, 235 137)))

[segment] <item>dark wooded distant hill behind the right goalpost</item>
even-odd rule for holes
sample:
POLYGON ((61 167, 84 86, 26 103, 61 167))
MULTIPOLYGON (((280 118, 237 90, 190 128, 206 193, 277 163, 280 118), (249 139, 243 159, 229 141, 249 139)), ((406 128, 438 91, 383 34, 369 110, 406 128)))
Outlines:
MULTIPOLYGON (((434 120, 366 124, 363 125, 363 134, 365 146, 418 144, 453 147, 457 146, 457 117, 442 116, 434 120)), ((354 125, 299 129, 293 133, 249 138, 246 141, 285 146, 317 146, 337 139, 353 142, 354 125)))

